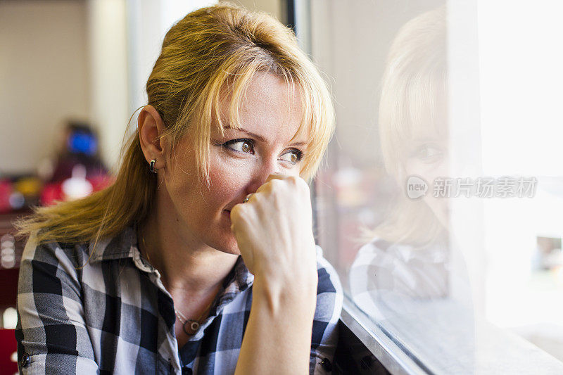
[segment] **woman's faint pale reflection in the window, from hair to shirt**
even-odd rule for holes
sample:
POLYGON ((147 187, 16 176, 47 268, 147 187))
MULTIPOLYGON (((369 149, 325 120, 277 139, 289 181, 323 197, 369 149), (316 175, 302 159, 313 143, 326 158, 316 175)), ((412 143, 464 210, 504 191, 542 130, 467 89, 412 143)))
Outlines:
MULTIPOLYGON (((393 40, 382 82, 379 134, 386 170, 400 192, 374 238, 350 269, 353 300, 407 352, 448 374, 471 373, 471 310, 453 301, 447 198, 435 198, 448 176, 448 71, 445 7, 406 23, 393 40), (407 195, 416 176, 428 191, 407 195)), ((460 284, 456 279, 456 285, 460 284)), ((468 290, 467 290, 468 291, 468 290)), ((463 299, 467 299, 465 295, 463 299)), ((464 301, 465 302, 465 301, 464 301)))

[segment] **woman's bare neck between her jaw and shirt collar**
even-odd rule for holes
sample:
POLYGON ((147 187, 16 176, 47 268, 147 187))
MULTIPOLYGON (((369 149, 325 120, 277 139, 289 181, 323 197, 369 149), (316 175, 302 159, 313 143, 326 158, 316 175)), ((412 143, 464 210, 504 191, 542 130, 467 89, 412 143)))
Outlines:
POLYGON ((179 231, 170 215, 149 215, 139 224, 141 253, 160 272, 163 285, 175 295, 203 296, 214 293, 238 258, 198 243, 195 236, 179 231), (170 221, 170 222, 169 222, 170 221))

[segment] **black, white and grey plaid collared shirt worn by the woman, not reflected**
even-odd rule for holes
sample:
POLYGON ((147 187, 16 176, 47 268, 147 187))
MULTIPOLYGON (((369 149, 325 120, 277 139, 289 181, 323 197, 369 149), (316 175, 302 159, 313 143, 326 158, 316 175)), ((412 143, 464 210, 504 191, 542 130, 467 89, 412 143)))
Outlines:
MULTIPOLYGON (((158 270, 141 258, 135 228, 101 241, 87 262, 91 246, 27 242, 15 331, 23 374, 234 373, 254 279, 241 257, 224 279, 209 317, 178 348, 174 303, 158 270)), ((327 374, 342 291, 318 247, 317 269, 310 374, 327 374)))

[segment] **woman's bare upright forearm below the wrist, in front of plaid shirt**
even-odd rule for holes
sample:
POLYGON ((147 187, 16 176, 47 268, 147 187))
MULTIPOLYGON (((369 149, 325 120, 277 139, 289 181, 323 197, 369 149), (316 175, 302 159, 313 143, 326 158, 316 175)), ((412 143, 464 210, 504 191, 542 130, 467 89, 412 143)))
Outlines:
POLYGON ((308 374, 317 279, 255 279, 235 374, 308 374))

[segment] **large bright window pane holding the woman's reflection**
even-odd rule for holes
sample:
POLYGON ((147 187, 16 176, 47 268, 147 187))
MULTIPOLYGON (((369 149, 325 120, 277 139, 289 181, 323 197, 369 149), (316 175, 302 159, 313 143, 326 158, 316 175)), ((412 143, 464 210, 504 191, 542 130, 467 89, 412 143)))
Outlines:
POLYGON ((317 239, 346 293, 430 371, 563 371, 562 6, 308 4, 337 117, 317 239))

